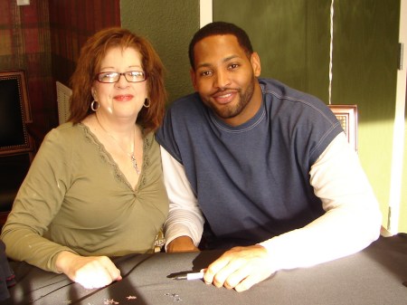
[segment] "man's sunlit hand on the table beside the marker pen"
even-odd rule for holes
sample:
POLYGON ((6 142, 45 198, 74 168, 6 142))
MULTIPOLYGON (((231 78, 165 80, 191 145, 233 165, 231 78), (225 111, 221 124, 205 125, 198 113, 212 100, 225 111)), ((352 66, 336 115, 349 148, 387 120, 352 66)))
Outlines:
POLYGON ((211 263, 204 273, 204 281, 216 287, 246 291, 275 272, 270 266, 267 250, 256 244, 235 247, 211 263))

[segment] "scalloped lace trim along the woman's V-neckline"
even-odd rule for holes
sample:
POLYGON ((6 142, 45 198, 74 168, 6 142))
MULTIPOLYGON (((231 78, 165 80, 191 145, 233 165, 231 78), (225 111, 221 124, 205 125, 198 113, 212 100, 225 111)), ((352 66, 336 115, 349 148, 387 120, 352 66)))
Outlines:
POLYGON ((147 175, 147 168, 150 163, 149 157, 148 157, 148 151, 151 148, 151 141, 149 138, 145 135, 145 130, 142 129, 141 132, 143 134, 143 166, 141 168, 140 175, 138 176, 138 182, 136 188, 130 185, 128 182, 128 179, 126 176, 123 174, 123 172, 120 170, 118 167, 118 164, 115 162, 113 157, 109 154, 108 150, 104 147, 104 145, 99 141, 99 138, 96 137, 96 135, 91 132, 90 128, 86 126, 83 123, 78 123, 78 125, 82 128, 83 134, 85 138, 87 138, 91 143, 93 143, 99 151, 99 157, 102 159, 103 162, 107 162, 111 167, 113 167, 114 172, 115 172, 115 179, 118 181, 126 184, 131 190, 136 191, 137 189, 141 188, 146 184, 146 175, 147 175))

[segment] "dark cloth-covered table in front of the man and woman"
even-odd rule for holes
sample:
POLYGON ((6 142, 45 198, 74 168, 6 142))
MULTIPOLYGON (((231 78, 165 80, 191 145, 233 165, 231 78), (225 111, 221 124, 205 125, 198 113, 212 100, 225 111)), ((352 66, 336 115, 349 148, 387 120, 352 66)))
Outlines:
POLYGON ((113 258, 123 280, 99 290, 85 290, 63 274, 11 262, 18 282, 5 304, 407 304, 407 234, 381 237, 364 251, 334 262, 277 272, 241 293, 201 280, 171 279, 179 272, 199 271, 219 255, 207 251, 113 258))

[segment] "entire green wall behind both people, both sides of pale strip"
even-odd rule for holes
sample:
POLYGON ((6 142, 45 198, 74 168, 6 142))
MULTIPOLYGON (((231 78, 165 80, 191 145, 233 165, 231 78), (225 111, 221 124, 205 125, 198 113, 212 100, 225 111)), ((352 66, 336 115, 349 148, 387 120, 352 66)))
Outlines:
MULTIPOLYGON (((213 0, 213 20, 241 25, 260 54, 261 76, 328 103, 330 0, 213 0)), ((199 0, 121 0, 121 23, 145 35, 166 65, 169 102, 193 91, 187 46, 199 0)), ((359 108, 359 157, 387 224, 400 0, 335 1, 333 104, 359 108)), ((407 130, 403 189, 407 189, 407 130)), ((407 232, 402 193, 399 231, 407 232)))

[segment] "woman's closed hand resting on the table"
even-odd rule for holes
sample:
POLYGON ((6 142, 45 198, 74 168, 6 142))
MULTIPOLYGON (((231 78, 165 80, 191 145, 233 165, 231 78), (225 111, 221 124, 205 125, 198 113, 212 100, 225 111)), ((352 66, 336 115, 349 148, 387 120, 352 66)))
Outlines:
POLYGON ((58 254, 56 267, 86 289, 104 287, 112 281, 121 280, 120 271, 107 256, 85 257, 63 251, 58 254))

